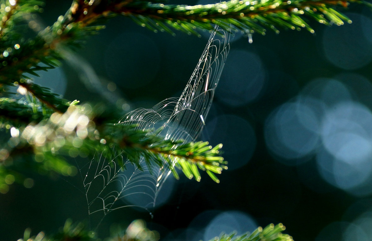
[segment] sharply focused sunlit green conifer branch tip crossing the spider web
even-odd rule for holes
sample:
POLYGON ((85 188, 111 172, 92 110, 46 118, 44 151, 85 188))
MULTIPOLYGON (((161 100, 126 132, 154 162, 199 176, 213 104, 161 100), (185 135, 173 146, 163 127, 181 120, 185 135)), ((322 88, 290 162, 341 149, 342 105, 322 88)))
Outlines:
MULTIPOLYGON (((120 148, 126 153, 129 160, 135 160, 135 164, 141 169, 140 158, 145 158, 145 163, 151 167, 151 163, 155 160, 158 167, 162 167, 166 161, 169 167, 176 165, 183 171, 186 177, 200 181, 201 176, 198 168, 212 178, 212 180, 219 182, 214 173, 221 174, 223 169, 227 169, 224 158, 220 157, 219 151, 222 144, 212 147, 208 142, 189 142, 183 143, 183 140, 164 140, 163 137, 158 136, 158 129, 154 133, 151 130, 138 130, 135 129, 136 125, 124 125, 126 129, 119 133, 108 136, 112 143, 119 143, 120 148), (121 134, 123 133, 124 136, 121 134), (117 139, 119 138, 119 140, 117 139)), ((117 129, 117 128, 116 128, 117 129)), ((150 169, 151 170, 151 169, 150 169)), ((178 179, 178 174, 171 168, 174 176, 178 179)))

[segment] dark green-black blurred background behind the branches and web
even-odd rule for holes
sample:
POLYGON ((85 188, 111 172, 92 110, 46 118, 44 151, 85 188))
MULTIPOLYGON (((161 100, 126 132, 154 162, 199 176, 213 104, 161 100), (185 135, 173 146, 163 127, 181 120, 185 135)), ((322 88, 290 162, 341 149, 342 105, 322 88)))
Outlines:
MULTIPOLYGON (((195 1, 177 3, 196 4, 195 1)), ((44 25, 51 25, 69 6, 70 1, 47 1, 40 20, 44 25)), ((349 12, 362 12, 363 15, 372 16, 359 7, 354 7, 349 12)), ((280 158, 272 154, 265 145, 264 122, 267 116, 276 107, 294 98, 311 80, 331 78, 340 73, 354 73, 372 81, 371 62, 353 70, 345 70, 329 62, 325 57, 323 44, 323 34, 329 27, 315 22, 311 22, 311 26, 316 34, 306 30, 282 30, 276 35, 268 31, 266 36, 253 35, 252 44, 248 43, 247 38, 231 43, 231 51, 244 50, 259 56, 264 66, 263 89, 249 103, 233 106, 223 102, 223 91, 219 92, 217 88, 210 115, 206 118, 206 131, 199 138, 210 141, 211 144, 223 141, 233 143, 226 150, 225 159, 231 165, 238 165, 235 163, 240 159, 249 159, 252 155, 247 164, 235 170, 224 171, 219 175, 219 184, 206 175, 202 176, 200 183, 183 177, 174 188, 168 203, 155 209, 153 219, 146 212, 125 208, 106 217, 99 228, 99 236, 106 237, 112 223, 126 225, 132 219, 143 218, 149 222, 150 228, 158 229, 161 237, 166 237, 170 232, 173 232, 173 237, 177 237, 203 211, 237 210, 251 215, 258 225, 282 222, 287 227, 286 232, 295 240, 310 241, 318 237, 324 227, 332 222, 351 222, 360 213, 371 209, 371 196, 355 197, 324 181, 318 173, 314 155, 309 154, 302 158, 299 165, 288 166, 277 161, 280 158), (252 126, 254 136, 229 139, 234 136, 230 131, 239 130, 239 126, 229 126, 228 119, 225 125, 218 125, 219 131, 209 133, 208 122, 221 114, 243 118, 252 126), (239 148, 250 145, 251 141, 257 142, 254 152, 247 150, 235 153, 239 148), (237 147, 237 150, 234 151, 233 147, 237 147)), ((354 26, 332 28, 352 29, 354 26)), ((120 94, 131 109, 151 107, 181 93, 207 42, 207 38, 176 33, 175 37, 167 33, 153 33, 128 18, 116 17, 107 23, 107 28, 100 31, 99 35, 89 38, 77 54, 90 64, 98 76, 116 84, 115 93, 120 94), (128 45, 130 47, 126 48, 128 45), (110 70, 118 71, 108 71, 108 65, 113 67, 110 70), (119 77, 115 77, 115 74, 119 77)), ((352 45, 345 46, 341 53, 348 56, 350 51, 355 51, 352 45)), ((234 62, 227 62, 228 65, 234 65, 234 62)), ((87 90, 68 61, 63 63, 62 70, 68 80, 64 94, 66 99, 109 103, 99 93, 87 90)), ((247 81, 249 79, 250 76, 247 76, 247 81)), ((227 81, 224 75, 220 80, 221 85, 223 81, 227 81)), ((107 86, 107 83, 103 86, 107 86)), ((240 94, 243 99, 250 95, 240 94)), ((234 96, 232 93, 231 95, 234 96)), ((365 99, 371 100, 372 96, 367 93, 365 99)), ((67 218, 74 221, 89 219, 85 196, 79 191, 82 186, 79 186, 81 183, 79 184, 78 178, 48 178, 36 174, 30 176, 35 180, 32 189, 15 184, 10 187, 9 193, 0 196, 0 241, 17 240, 28 227, 32 228, 32 234, 35 235, 39 231, 52 233, 67 218)), ((205 222, 194 228, 202 228, 208 223, 205 222)), ((181 237, 187 240, 186 236, 181 237)), ((178 237, 173 240, 181 239, 178 237)), ((328 240, 340 238, 333 236, 328 240)))

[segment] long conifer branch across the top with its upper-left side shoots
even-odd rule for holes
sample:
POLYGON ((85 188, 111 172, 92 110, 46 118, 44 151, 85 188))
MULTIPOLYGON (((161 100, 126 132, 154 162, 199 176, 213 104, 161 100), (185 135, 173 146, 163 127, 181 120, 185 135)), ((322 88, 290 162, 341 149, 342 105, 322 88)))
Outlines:
MULTIPOLYGON (((39 32, 35 39, 22 40, 13 28, 14 22, 30 11, 40 9, 41 1, 11 0, 1 5, 0 22, 0 84, 13 86, 24 78, 24 73, 37 75, 35 71, 58 66, 63 48, 79 47, 88 35, 96 34, 104 26, 91 26, 100 19, 106 19, 119 13, 130 16, 141 26, 155 32, 171 29, 199 35, 196 29, 213 30, 214 24, 222 29, 247 35, 259 32, 264 34, 267 28, 279 32, 277 28, 314 30, 308 25, 304 16, 320 23, 342 25, 351 22, 335 9, 346 7, 349 3, 371 3, 361 0, 232 0, 209 5, 165 5, 147 1, 74 1, 65 16, 60 16, 52 27, 39 32), (45 66, 42 66, 43 63, 45 66)), ((64 112, 66 105, 62 100, 52 97, 48 91, 32 84, 20 84, 28 89, 46 106, 57 112, 64 112)))

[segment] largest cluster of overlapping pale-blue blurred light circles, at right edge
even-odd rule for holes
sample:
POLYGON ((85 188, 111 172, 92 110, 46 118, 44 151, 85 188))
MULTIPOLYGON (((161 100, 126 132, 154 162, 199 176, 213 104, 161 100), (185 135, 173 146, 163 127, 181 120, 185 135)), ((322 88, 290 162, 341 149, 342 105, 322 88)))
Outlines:
MULTIPOLYGON (((265 122, 265 142, 276 159, 287 164, 298 165, 302 161, 298 158, 315 154, 322 179, 352 195, 365 196, 372 193, 368 188, 372 184, 372 113, 355 99, 358 93, 367 95, 372 86, 359 76, 339 77, 344 83, 315 79, 296 99, 275 109, 265 122)), ((369 103, 368 97, 361 98, 369 103)))

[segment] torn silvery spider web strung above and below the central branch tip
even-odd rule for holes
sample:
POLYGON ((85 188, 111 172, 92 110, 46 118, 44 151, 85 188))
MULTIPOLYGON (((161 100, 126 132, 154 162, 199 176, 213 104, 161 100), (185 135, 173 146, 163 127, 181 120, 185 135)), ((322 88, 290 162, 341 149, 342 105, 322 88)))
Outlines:
MULTIPOLYGON (((138 129, 162 127, 159 135, 164 136, 164 139, 195 141, 205 125, 204 119, 208 115, 230 48, 230 35, 220 29, 217 31, 219 35, 212 33, 179 98, 163 100, 151 109, 133 110, 118 123, 135 123, 138 129)), ((120 150, 113 153, 110 159, 97 154, 90 163, 78 165, 89 215, 100 214, 100 223, 108 213, 128 206, 145 209, 152 215, 151 210, 155 204, 158 205, 157 197, 171 173, 171 167, 164 161, 162 167, 150 171, 144 160, 141 160, 140 170, 130 164, 120 150), (124 163, 126 170, 119 163, 124 163)))

